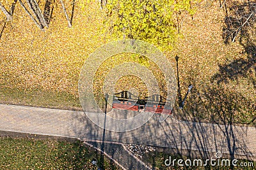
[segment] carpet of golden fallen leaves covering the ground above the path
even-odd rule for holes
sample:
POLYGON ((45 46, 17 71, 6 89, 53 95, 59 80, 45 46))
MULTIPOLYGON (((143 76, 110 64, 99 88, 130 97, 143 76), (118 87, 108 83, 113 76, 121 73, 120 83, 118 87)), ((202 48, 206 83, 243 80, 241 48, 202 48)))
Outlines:
MULTIPOLYGON (((11 0, 1 0, 6 7, 10 7, 12 2, 11 0)), ((44 8, 44 2, 45 0, 40 1, 41 9, 44 8)), ((70 16, 72 1, 65 0, 64 4, 70 16)), ((207 87, 212 86, 212 76, 219 73, 221 65, 247 57, 239 42, 228 46, 223 43, 221 31, 225 11, 219 8, 217 1, 211 1, 209 4, 209 1, 204 0, 194 5, 196 5, 196 13, 193 15, 193 20, 189 13, 180 15, 180 34, 177 35, 173 50, 165 52, 173 69, 176 67, 175 55, 180 57, 179 72, 182 94, 186 94, 189 83, 193 83, 196 89, 203 93, 207 87)), ((111 34, 102 32, 106 13, 104 10, 100 10, 98 1, 77 0, 71 28, 67 27, 67 20, 61 4, 56 1, 52 6, 54 6, 52 19, 49 28, 45 28, 44 32, 36 27, 19 3, 16 4, 13 19, 8 22, 6 22, 3 12, 0 11, 0 32, 3 30, 0 39, 1 94, 8 93, 8 89, 19 89, 22 92, 38 89, 42 93, 45 91, 65 92, 78 98, 79 73, 84 60, 99 46, 114 39, 111 34)), ((140 59, 141 57, 127 57, 126 60, 132 60, 145 66, 148 64, 150 69, 155 68, 154 63, 150 65, 150 61, 140 59)), ((116 66, 124 61, 113 57, 102 65, 104 67, 99 69, 96 75, 99 80, 95 82, 96 91, 100 92, 102 89, 104 76, 100 76, 102 75, 101 71, 108 71, 108 67, 116 66)), ((249 74, 255 78, 253 69, 250 70, 248 76, 250 76, 249 74)), ((160 73, 158 78, 161 81, 160 73)), ((136 82, 132 77, 121 81, 136 82)), ((216 85, 216 82, 213 83, 216 85)), ((224 88, 221 90, 224 92, 227 90, 228 94, 242 94, 242 98, 248 99, 248 101, 256 99, 255 87, 248 78, 241 77, 238 80, 221 83, 221 85, 224 88)), ((134 87, 145 88, 143 83, 134 87)), ((127 87, 118 85, 116 90, 129 88, 131 88, 129 85, 127 87)), ((242 98, 241 103, 246 103, 246 101, 242 101, 242 98)), ((1 97, 0 99, 2 100, 0 102, 11 100, 1 97)), ((76 103, 79 105, 79 101, 76 103)), ((205 99, 205 103, 210 103, 210 101, 205 99)), ((33 105, 33 101, 31 104, 33 105)), ((252 111, 253 108, 249 109, 252 111)))

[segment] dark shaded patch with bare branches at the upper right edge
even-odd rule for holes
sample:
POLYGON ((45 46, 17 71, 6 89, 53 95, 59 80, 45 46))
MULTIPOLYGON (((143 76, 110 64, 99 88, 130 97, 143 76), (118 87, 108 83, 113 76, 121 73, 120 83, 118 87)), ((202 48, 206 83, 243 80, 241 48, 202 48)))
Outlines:
POLYGON ((212 78, 218 83, 228 83, 229 80, 238 80, 239 77, 248 78, 256 89, 256 1, 234 1, 229 9, 230 15, 224 19, 223 41, 227 45, 239 41, 244 48, 243 55, 247 58, 220 65, 220 73, 212 78))

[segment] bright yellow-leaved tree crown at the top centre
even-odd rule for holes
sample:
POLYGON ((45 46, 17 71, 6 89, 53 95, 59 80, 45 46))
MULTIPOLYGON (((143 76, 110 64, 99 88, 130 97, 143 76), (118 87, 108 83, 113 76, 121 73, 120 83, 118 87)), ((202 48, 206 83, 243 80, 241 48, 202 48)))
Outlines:
POLYGON ((195 13, 192 0, 114 0, 106 4, 106 32, 116 38, 148 41, 163 50, 172 49, 177 38, 175 14, 195 13))

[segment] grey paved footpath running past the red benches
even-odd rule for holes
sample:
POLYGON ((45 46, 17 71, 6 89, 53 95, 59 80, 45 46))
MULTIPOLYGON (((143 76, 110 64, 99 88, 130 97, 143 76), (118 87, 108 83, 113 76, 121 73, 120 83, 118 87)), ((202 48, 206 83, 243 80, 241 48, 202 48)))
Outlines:
MULTIPOLYGON (((113 145, 135 143, 193 150, 203 157, 221 152, 230 157, 255 160, 255 127, 186 122, 173 117, 162 123, 158 120, 159 114, 155 114, 145 125, 133 131, 106 131, 104 141, 113 145)), ((93 124, 83 111, 6 104, 0 104, 0 131, 72 137, 91 144, 99 143, 103 136, 103 129, 93 124)))

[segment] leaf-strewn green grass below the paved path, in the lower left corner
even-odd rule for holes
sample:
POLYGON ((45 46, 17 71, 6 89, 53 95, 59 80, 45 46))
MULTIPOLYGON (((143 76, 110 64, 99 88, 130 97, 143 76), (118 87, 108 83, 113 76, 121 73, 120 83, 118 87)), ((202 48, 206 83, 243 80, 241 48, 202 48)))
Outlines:
MULTIPOLYGON (((91 161, 100 153, 79 141, 0 138, 0 169, 96 169, 91 161)), ((104 160, 106 169, 117 169, 104 160)))

